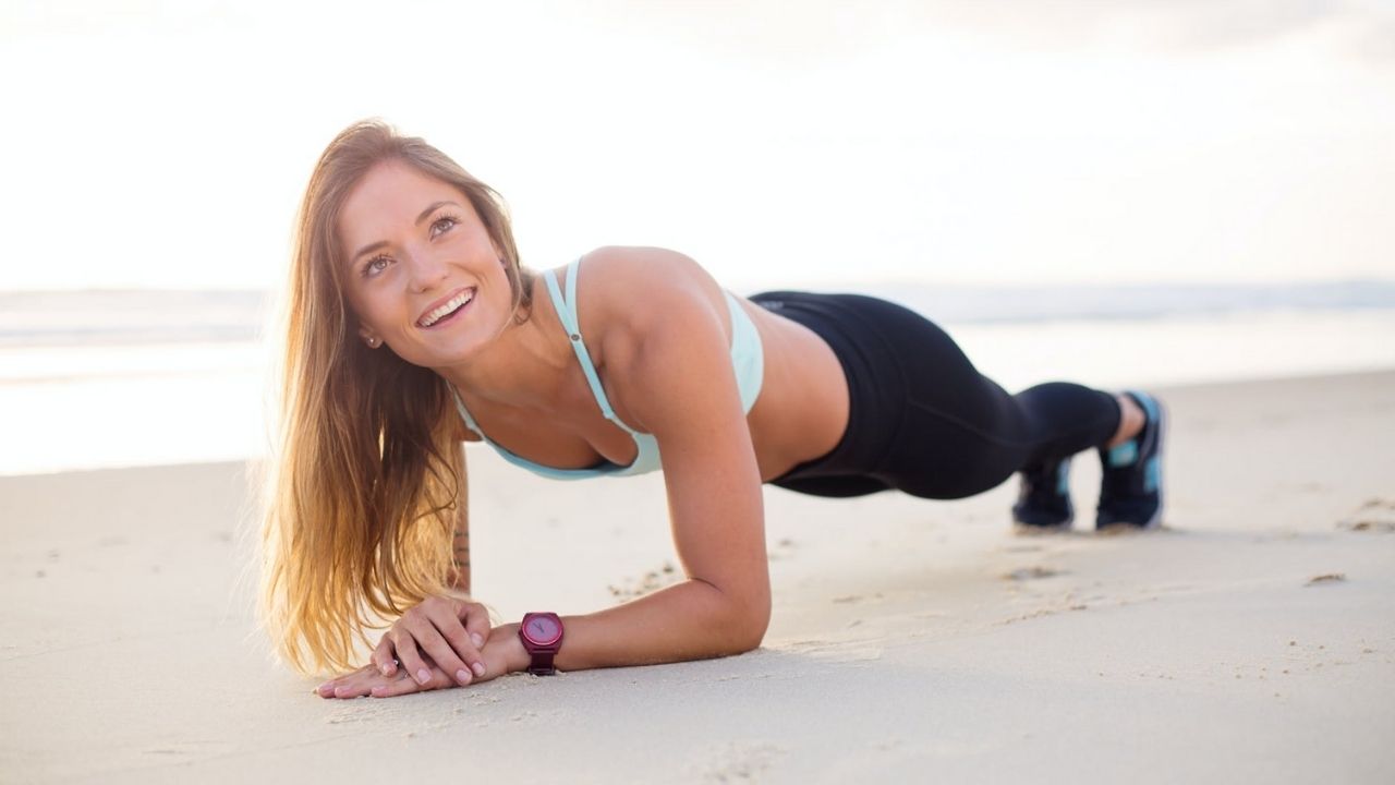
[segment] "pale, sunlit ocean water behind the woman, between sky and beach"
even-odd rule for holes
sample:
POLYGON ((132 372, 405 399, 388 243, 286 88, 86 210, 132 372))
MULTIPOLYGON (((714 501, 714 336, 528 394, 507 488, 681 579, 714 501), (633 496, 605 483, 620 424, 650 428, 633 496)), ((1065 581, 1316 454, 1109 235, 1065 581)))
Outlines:
MULTIPOLYGON (((1395 282, 836 289, 929 316, 1009 390, 1395 367, 1395 282)), ((269 303, 265 292, 0 292, 0 475, 264 455, 269 303)))

